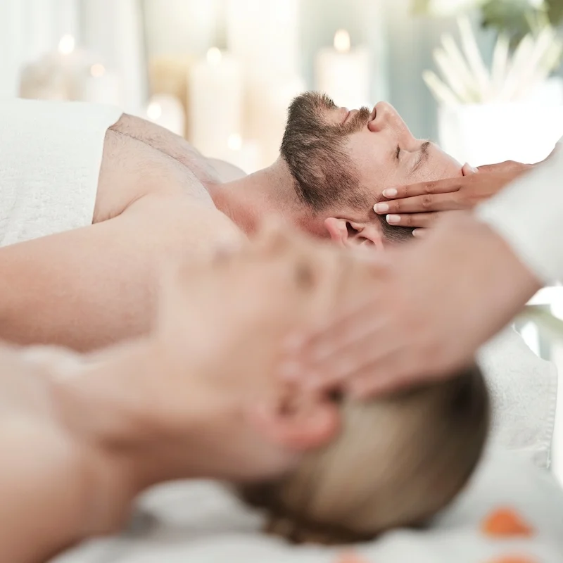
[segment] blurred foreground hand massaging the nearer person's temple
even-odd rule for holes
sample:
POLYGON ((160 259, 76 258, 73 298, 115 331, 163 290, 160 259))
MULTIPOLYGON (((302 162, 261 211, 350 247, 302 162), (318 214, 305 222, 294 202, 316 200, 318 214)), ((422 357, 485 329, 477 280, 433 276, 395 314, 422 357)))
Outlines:
POLYGON ((280 377, 370 396, 449 377, 540 288, 490 227, 463 213, 381 253, 354 308, 287 341, 280 377))

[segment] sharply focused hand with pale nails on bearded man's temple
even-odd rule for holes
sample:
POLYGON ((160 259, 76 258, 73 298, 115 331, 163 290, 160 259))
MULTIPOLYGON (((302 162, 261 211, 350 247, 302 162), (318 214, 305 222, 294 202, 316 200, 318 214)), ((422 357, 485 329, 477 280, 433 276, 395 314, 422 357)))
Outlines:
MULTIPOLYGON (((377 203, 374 210, 387 215, 393 226, 431 227, 453 211, 472 209, 491 198, 531 167, 513 160, 479 169, 466 164, 461 177, 386 189, 383 195, 388 201, 377 203)), ((419 236, 422 232, 414 234, 419 236)))

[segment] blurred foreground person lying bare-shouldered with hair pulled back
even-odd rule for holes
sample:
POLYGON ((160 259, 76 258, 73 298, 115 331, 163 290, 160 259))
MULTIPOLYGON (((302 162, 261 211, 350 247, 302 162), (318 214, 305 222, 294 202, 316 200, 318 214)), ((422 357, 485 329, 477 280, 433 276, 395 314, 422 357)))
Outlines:
POLYGON ((291 327, 376 279, 350 253, 265 234, 168 270, 148 336, 89 355, 1 349, 0 560, 118 531, 137 493, 172 479, 233 483, 296 542, 424 524, 481 455, 479 369, 366 403, 273 373, 291 327))

